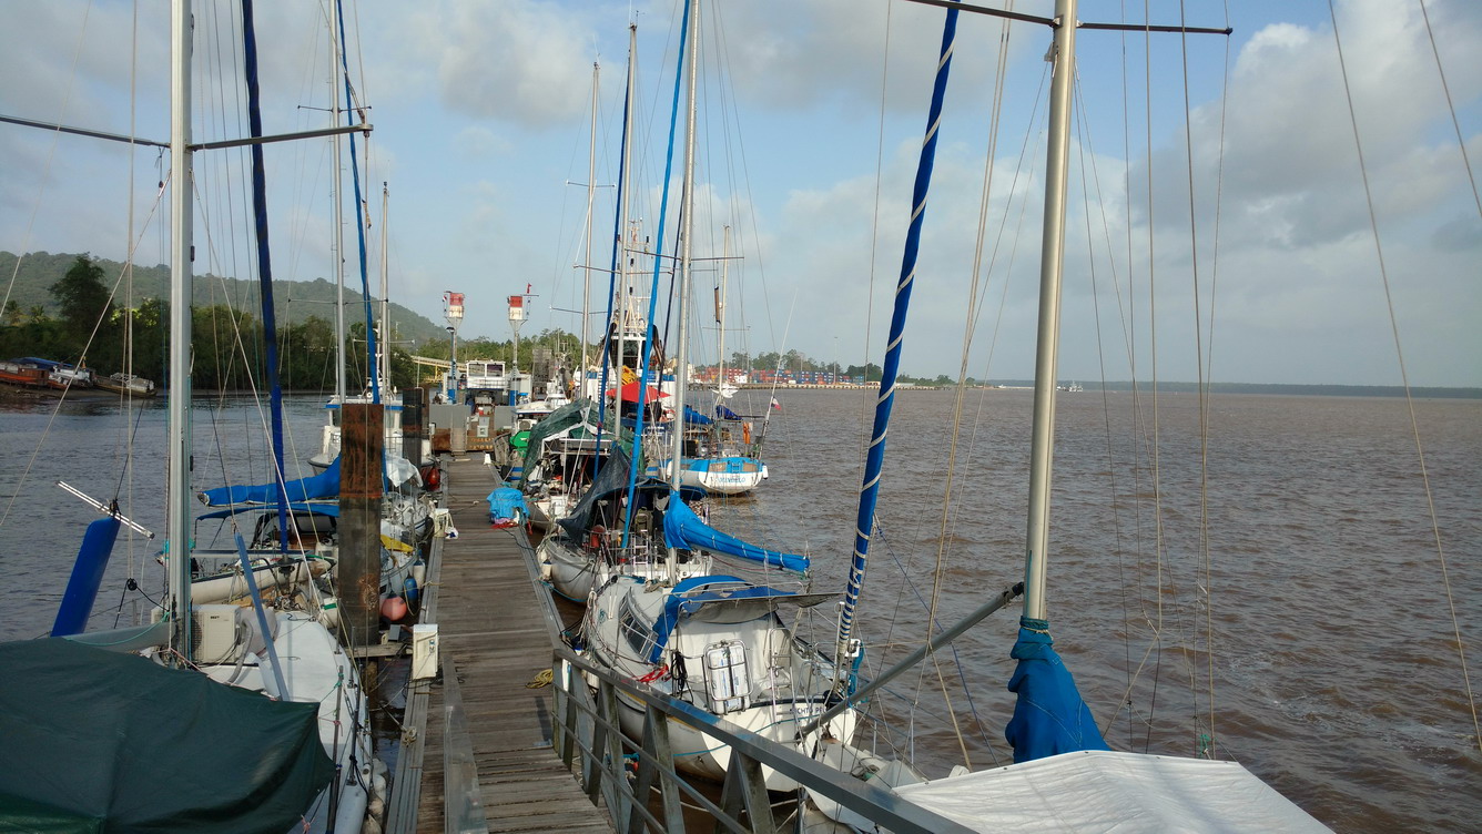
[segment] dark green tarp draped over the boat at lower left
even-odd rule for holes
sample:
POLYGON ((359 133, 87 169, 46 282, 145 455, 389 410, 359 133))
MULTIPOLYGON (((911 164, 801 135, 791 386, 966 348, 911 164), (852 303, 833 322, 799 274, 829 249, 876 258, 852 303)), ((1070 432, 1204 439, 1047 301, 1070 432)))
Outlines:
POLYGON ((0 668, 0 833, 283 833, 335 770, 317 704, 55 637, 0 668))

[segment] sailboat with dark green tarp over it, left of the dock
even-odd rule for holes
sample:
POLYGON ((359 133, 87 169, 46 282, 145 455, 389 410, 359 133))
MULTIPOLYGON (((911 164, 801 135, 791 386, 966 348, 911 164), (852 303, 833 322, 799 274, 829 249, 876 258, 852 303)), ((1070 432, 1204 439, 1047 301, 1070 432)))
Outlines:
MULTIPOLYGON (((243 15, 243 25, 258 244, 267 278, 250 13, 243 15)), ((28 751, 25 767, 6 767, 0 775, 0 818, 16 830, 353 833, 365 819, 375 779, 354 662, 314 612, 285 607, 270 615, 256 593, 252 609, 199 606, 191 598, 188 0, 173 0, 170 31, 169 601, 142 628, 79 634, 102 576, 101 567, 90 573, 86 566, 98 564, 99 551, 105 558, 123 523, 110 508, 89 527, 68 587, 73 607, 64 604, 53 637, 0 647, 9 670, 0 692, 0 732, 28 751), (132 653, 139 649, 142 656, 132 653)), ((270 292, 264 305, 271 310, 270 292)), ((270 351, 271 344, 270 338, 270 351)), ((276 470, 282 473, 282 458, 276 470)), ((240 539, 239 551, 246 561, 240 539)))

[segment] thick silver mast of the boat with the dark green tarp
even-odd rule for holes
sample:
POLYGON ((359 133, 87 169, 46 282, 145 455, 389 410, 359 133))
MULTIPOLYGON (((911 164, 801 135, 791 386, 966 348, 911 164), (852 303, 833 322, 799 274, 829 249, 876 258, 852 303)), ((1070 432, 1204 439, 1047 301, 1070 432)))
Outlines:
POLYGON ((170 407, 167 541, 170 643, 191 659, 190 635, 190 342, 191 342, 191 150, 190 150, 190 0, 170 3, 170 407))

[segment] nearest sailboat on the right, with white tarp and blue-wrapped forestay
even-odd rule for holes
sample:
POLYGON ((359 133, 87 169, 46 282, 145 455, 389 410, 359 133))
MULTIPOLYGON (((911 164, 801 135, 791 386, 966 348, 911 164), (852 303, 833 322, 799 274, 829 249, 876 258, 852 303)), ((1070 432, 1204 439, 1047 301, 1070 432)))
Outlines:
MULTIPOLYGON (((974 10, 997 13, 983 7, 974 10)), ((858 653, 855 610, 865 576, 874 526, 886 428, 900 370, 903 333, 916 278, 916 256, 931 185, 941 105, 951 68, 959 9, 947 4, 940 61, 922 144, 906 238, 895 308, 885 357, 880 394, 860 490, 855 545, 845 604, 839 618, 836 656, 858 653)), ((1024 19, 1020 16, 1018 19, 1024 19)), ((1070 111, 1076 76, 1076 0, 1057 0, 1055 16, 1039 19, 1054 30, 1051 62, 1045 224, 1042 240, 1039 327, 1034 364, 1033 446, 1029 483, 1029 529, 1024 582, 1005 590, 957 625, 935 635, 868 684, 840 681, 845 702, 865 699, 891 678, 914 667, 951 638, 1023 594, 1011 656, 1017 661, 1008 689, 1017 701, 1005 736, 1014 747, 1014 764, 990 770, 957 769, 950 776, 923 781, 919 773, 885 767, 883 760, 849 748, 839 739, 821 744, 815 754, 842 770, 882 776, 907 801, 934 810, 974 831, 1137 830, 1137 831, 1326 831, 1326 828, 1235 761, 1178 758, 1113 751, 1103 739, 1091 711, 1076 689, 1070 670, 1054 649, 1046 613, 1049 553, 1049 492, 1054 459, 1057 360, 1060 338, 1060 283, 1064 255, 1066 193, 1070 148, 1070 111), (1066 25, 1066 22, 1076 25, 1066 25), (888 776, 886 776, 888 775, 888 776)), ((1187 30, 1196 31, 1196 30, 1187 30)), ((1226 33, 1227 34, 1227 33, 1226 33)), ((843 704, 834 710, 842 710, 843 704)), ((827 718, 824 713, 821 718, 827 718)), ((809 726, 811 727, 811 726, 809 726)), ((806 730, 808 727, 805 727, 806 730)), ((827 800, 815 800, 823 813, 855 828, 867 821, 827 800)), ((825 824, 827 827, 827 824, 825 824)))

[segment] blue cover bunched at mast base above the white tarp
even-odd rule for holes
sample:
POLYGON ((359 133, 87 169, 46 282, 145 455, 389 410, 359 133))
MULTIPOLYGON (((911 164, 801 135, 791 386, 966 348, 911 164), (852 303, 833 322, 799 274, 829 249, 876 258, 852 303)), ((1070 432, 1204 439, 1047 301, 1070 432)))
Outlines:
POLYGON ((1003 730, 1015 763, 1079 750, 1112 750, 1054 643, 1048 622, 1020 618, 1018 641, 1009 653, 1018 661, 1009 678, 1009 692, 1018 699, 1003 730))

